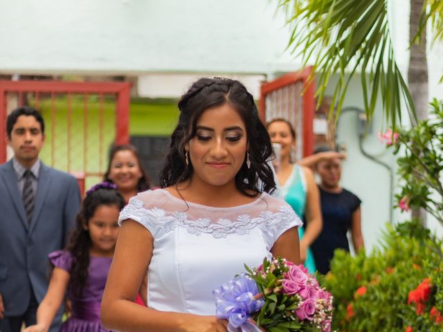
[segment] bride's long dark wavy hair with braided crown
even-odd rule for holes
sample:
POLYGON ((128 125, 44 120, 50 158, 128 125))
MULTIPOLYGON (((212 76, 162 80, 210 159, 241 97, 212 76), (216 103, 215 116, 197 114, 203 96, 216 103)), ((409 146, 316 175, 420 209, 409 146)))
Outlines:
POLYGON ((162 187, 178 185, 192 177, 194 169, 190 162, 186 165, 185 148, 196 134, 197 120, 206 109, 226 103, 244 122, 251 160, 248 168, 245 154, 244 163, 235 176, 237 189, 247 196, 275 190, 273 172, 266 163, 272 155, 271 139, 258 117, 253 95, 239 81, 222 77, 201 78, 181 97, 179 123, 172 133, 170 151, 161 172, 162 187))

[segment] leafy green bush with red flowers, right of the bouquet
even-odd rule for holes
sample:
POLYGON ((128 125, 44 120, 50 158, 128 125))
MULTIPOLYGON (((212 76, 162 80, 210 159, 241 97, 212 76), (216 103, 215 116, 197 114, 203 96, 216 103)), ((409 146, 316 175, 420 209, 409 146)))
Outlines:
POLYGON ((415 219, 392 228, 368 257, 337 250, 320 284, 334 296, 339 331, 442 331, 442 242, 415 219), (417 230, 419 230, 417 232, 417 230), (410 234, 414 234, 410 237, 410 234), (425 282, 426 281, 426 282, 425 282), (418 290, 418 291, 417 291, 418 290), (419 292, 428 291, 420 304, 419 292), (417 299, 416 302, 411 299, 417 299))

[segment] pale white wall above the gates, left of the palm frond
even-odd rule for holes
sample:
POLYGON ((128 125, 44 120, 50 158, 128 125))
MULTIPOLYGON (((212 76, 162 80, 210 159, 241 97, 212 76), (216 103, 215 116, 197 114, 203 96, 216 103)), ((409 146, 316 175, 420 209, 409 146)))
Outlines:
POLYGON ((268 0, 0 0, 0 73, 273 73, 299 67, 268 0))

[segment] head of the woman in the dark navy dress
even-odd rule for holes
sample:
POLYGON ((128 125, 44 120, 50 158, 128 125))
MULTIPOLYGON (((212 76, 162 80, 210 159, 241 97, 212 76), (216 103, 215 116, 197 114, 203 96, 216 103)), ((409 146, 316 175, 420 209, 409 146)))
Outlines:
MULTIPOLYGON (((314 154, 329 151, 334 150, 327 146, 318 147, 315 149, 314 154)), ((336 158, 320 159, 315 165, 315 171, 320 176, 320 187, 327 191, 340 189, 341 159, 338 156, 336 158)))

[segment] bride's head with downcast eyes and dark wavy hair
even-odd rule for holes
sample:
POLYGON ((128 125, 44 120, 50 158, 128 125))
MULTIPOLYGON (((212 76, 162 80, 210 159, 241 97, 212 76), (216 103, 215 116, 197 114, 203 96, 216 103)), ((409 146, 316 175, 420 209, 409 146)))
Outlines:
POLYGON ((242 83, 201 78, 181 97, 179 109, 162 187, 199 181, 212 187, 234 185, 247 196, 275 189, 273 172, 266 164, 272 154, 271 140, 253 95, 242 83), (226 165, 216 167, 217 160, 226 165))

